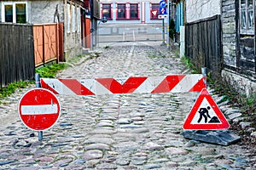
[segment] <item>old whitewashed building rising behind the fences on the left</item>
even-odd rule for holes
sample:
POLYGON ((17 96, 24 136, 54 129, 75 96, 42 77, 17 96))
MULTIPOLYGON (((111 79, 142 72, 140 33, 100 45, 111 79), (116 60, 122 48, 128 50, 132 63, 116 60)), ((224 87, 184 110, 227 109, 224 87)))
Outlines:
POLYGON ((63 24, 65 58, 82 54, 82 48, 90 48, 88 30, 90 27, 89 0, 53 1, 1 1, 0 21, 32 25, 63 24), (89 19, 85 21, 85 19, 89 19), (86 24, 87 23, 87 24, 86 24), (84 40, 84 41, 83 41, 84 40))

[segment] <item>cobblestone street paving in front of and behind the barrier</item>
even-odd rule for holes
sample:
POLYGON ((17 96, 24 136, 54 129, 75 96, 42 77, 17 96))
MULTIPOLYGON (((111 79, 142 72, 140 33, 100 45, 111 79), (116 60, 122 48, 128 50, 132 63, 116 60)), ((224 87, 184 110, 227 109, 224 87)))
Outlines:
MULTIPOLYGON (((131 42, 102 48, 100 57, 79 62, 58 77, 152 77, 181 73, 189 71, 160 43, 148 46, 131 42)), ((183 122, 197 94, 58 96, 61 118, 38 142, 38 133, 20 122, 16 109, 20 95, 28 89, 0 105, 0 169, 256 168, 252 163, 255 153, 246 146, 206 144, 183 138, 183 122)))

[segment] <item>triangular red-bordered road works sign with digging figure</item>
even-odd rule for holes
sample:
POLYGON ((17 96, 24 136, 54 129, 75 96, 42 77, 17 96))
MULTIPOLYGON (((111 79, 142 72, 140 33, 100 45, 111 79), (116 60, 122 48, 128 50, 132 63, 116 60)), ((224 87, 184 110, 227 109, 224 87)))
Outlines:
POLYGON ((195 105, 192 107, 189 116, 183 124, 183 128, 213 130, 229 127, 229 122, 227 122, 207 89, 202 89, 201 94, 195 101, 195 105))

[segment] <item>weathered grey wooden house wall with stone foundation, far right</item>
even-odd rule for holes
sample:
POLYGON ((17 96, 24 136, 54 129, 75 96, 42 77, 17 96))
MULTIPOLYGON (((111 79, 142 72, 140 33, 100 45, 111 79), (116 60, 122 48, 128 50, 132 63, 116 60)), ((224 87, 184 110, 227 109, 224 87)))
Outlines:
POLYGON ((256 95, 255 0, 223 0, 223 77, 237 90, 256 95))

